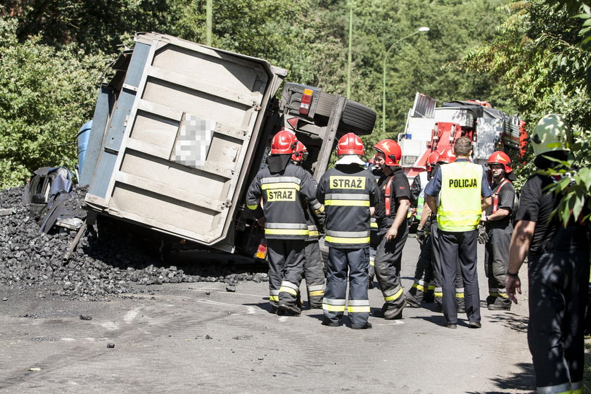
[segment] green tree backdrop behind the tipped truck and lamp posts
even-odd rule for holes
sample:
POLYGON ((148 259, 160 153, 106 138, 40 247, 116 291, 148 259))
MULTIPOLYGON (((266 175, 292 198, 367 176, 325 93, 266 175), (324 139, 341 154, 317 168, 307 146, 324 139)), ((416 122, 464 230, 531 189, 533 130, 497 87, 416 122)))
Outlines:
MULTIPOLYGON (((478 70, 457 67, 467 48, 494 37, 495 27, 507 18, 503 4, 504 0, 214 0, 212 45, 265 58, 286 68, 289 81, 344 94, 352 6, 351 98, 378 113, 376 132, 364 137, 371 155, 369 146, 379 139, 395 139, 402 131, 416 91, 439 102, 479 98, 514 110, 504 84, 478 70), (383 134, 379 130, 384 53, 421 26, 431 27, 431 32, 403 40, 388 56, 383 134)), ((10 144, 0 151, 0 169, 11 179, 4 184, 20 182, 39 163, 75 163, 70 136, 91 115, 96 75, 106 64, 101 58, 118 53, 117 45, 131 46, 134 32, 157 31, 205 42, 205 0, 9 0, 0 6, 3 15, 0 125, 6 125, 5 141, 10 144), (55 147, 46 152, 49 141, 55 147)))

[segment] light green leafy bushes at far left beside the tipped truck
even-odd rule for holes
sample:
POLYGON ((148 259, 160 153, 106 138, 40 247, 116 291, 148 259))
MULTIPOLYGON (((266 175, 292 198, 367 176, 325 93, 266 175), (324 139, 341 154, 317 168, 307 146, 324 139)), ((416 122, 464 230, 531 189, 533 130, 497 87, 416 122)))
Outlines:
POLYGON ((0 187, 23 184, 32 170, 77 157, 76 133, 92 114, 99 56, 56 50, 39 37, 18 43, 15 20, 0 19, 0 187))

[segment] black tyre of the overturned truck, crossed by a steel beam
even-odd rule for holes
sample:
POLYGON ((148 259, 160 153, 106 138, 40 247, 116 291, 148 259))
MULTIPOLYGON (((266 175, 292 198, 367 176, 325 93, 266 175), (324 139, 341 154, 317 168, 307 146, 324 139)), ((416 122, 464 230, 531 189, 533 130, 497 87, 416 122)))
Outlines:
MULTIPOLYGON (((337 96, 321 92, 314 113, 314 117, 326 117, 331 115, 333 105, 337 96)), ((339 125, 341 132, 354 132, 357 134, 371 134, 376 123, 376 112, 371 108, 357 103, 356 101, 347 100, 345 108, 343 108, 343 117, 339 125)))

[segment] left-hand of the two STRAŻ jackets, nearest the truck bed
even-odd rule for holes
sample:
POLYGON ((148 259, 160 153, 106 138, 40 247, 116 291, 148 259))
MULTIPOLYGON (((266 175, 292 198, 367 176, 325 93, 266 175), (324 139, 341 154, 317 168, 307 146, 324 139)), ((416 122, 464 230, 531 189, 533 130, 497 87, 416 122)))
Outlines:
POLYGON ((269 167, 259 170, 246 193, 246 204, 255 217, 265 216, 265 238, 307 239, 310 231, 303 207, 309 203, 314 210, 323 208, 314 192, 310 174, 288 163, 279 172, 269 167))

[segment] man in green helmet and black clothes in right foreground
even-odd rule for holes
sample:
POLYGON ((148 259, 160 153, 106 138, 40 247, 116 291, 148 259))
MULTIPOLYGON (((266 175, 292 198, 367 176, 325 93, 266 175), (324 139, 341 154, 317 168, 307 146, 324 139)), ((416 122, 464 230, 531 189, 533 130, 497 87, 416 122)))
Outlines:
MULTIPOLYGON (((534 165, 549 170, 555 160, 567 160, 572 136, 560 115, 542 117, 531 136, 534 165)), ((538 393, 582 393, 585 368, 583 326, 589 280, 589 212, 561 225, 552 212, 561 196, 547 191, 561 177, 534 174, 521 189, 511 246, 506 291, 517 303, 521 294, 519 268, 528 258, 528 344, 538 393)), ((583 206, 585 206, 583 202, 583 206)))

